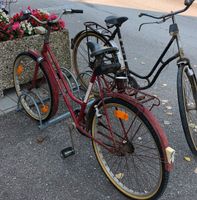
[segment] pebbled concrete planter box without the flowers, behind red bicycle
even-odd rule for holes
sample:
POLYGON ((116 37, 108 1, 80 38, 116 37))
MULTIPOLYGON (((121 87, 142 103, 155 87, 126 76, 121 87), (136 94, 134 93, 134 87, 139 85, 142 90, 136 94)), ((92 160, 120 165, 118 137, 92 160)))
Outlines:
MULTIPOLYGON (((60 66, 70 68, 70 45, 68 30, 52 32, 50 46, 56 55, 60 66)), ((12 88, 13 84, 13 63, 15 57, 28 49, 41 50, 43 36, 34 35, 21 39, 10 40, 0 43, 0 97, 5 89, 12 88)))

